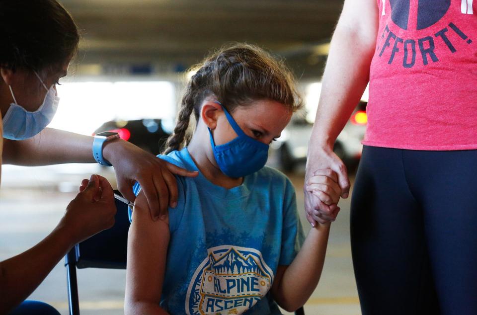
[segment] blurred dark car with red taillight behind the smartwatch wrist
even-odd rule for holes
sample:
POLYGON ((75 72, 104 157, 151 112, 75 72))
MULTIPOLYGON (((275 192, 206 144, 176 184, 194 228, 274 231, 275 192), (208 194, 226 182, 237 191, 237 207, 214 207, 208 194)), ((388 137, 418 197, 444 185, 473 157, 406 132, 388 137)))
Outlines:
POLYGON ((117 132, 121 139, 158 155, 165 149, 173 127, 172 119, 117 120, 105 122, 94 131, 94 134, 103 131, 117 132))

